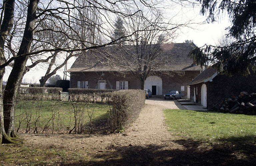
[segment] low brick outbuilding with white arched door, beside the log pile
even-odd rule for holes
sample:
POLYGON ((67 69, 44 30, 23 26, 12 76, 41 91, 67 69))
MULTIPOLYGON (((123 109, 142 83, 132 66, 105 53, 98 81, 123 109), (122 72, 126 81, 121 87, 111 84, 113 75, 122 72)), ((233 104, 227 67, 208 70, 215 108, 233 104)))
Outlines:
POLYGON ((256 92, 256 74, 248 76, 239 74, 232 77, 218 73, 212 66, 206 68, 187 86, 190 88, 190 98, 194 102, 211 108, 224 98, 237 96, 242 91, 256 92))

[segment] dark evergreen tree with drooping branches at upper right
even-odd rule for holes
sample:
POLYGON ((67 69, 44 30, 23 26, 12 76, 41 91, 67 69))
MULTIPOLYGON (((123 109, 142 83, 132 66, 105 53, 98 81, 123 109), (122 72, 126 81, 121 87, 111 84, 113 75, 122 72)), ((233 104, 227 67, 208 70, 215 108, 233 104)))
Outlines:
POLYGON ((191 52, 198 64, 210 62, 226 74, 243 75, 256 69, 256 1, 255 0, 198 0, 201 13, 208 15, 208 21, 216 21, 215 15, 227 12, 232 25, 227 29, 227 38, 235 41, 226 46, 209 46, 196 48, 191 52))

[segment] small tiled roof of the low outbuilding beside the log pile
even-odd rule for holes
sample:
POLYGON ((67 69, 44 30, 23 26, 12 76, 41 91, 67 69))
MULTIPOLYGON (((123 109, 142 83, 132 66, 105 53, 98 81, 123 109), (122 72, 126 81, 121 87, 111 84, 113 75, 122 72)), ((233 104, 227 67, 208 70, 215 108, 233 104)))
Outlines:
POLYGON ((202 71, 196 78, 194 78, 189 84, 187 85, 194 85, 201 82, 207 82, 208 79, 213 79, 217 75, 216 69, 212 66, 206 68, 202 71))

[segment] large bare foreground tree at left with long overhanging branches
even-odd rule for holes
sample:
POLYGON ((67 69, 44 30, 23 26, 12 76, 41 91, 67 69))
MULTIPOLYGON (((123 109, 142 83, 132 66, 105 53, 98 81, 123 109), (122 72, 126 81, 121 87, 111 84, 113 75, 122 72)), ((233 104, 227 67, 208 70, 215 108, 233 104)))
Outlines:
MULTIPOLYGON (((13 142, 14 139, 12 139, 11 137, 17 136, 14 131, 14 106, 16 100, 16 93, 19 82, 23 77, 26 63, 28 62, 28 59, 30 57, 35 58, 47 52, 55 51, 79 54, 81 53, 81 51, 114 44, 120 38, 111 40, 111 34, 109 33, 111 18, 115 17, 115 15, 118 15, 120 17, 129 18, 141 17, 142 19, 147 20, 147 18, 143 15, 143 12, 140 10, 139 6, 146 6, 147 8, 149 8, 149 11, 154 12, 156 11, 156 7, 154 7, 154 4, 157 4, 151 1, 137 2, 128 0, 87 0, 85 2, 87 3, 81 4, 81 2, 77 0, 72 2, 65 0, 46 0, 40 3, 39 0, 5 0, 0 4, 1 142, 13 142), (135 11, 127 12, 124 10, 125 7, 135 8, 135 11), (92 17, 92 19, 89 19, 91 22, 85 20, 85 26, 82 25, 81 21, 83 20, 81 18, 86 17, 86 14, 80 11, 86 11, 87 9, 90 9, 91 11, 97 13, 97 17, 94 16, 92 17), (22 14, 19 15, 18 11, 21 11, 22 14), (79 17, 77 17, 78 13, 80 14, 79 17), (20 20, 18 20, 18 18, 20 18, 20 20), (100 21, 95 21, 97 19, 99 19, 100 21), (18 24, 20 25, 20 27, 16 28, 19 32, 18 35, 14 35, 13 38, 10 40, 12 32, 11 30, 13 28, 14 22, 19 22, 22 24, 18 24), (53 26, 50 27, 47 25, 53 26), (94 40, 84 40, 84 38, 81 36, 84 33, 81 34, 75 27, 85 27, 85 30, 89 30, 89 32, 97 31, 97 33, 100 34, 100 38, 105 39, 104 43, 100 44, 99 42, 96 42, 95 38, 94 40), (35 35, 35 33, 41 35, 35 35), (66 40, 68 44, 62 46, 56 45, 56 43, 52 42, 52 40, 48 40, 49 38, 46 36, 48 33, 52 33, 52 36, 65 36, 65 39, 68 39, 66 40), (10 35, 10 38, 8 37, 8 35, 10 35), (9 41, 7 40, 7 37, 9 38, 9 41), (32 47, 33 45, 36 45, 38 47, 32 47), (12 50, 10 54, 7 54, 8 50, 5 49, 8 47, 11 48, 10 50, 12 50), (2 96, 2 79, 5 73, 5 67, 7 65, 10 65, 11 63, 13 63, 13 68, 9 75, 4 95, 2 96)), ((132 32, 132 34, 133 33, 135 32, 132 32)), ((127 34, 127 36, 131 36, 132 34, 127 34)))

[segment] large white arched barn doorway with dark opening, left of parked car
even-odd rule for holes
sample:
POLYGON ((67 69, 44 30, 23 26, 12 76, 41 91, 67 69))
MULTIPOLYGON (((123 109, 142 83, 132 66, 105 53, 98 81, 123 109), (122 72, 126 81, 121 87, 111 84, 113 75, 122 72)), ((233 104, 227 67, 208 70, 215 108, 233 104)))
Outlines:
POLYGON ((144 89, 150 89, 153 95, 162 95, 162 79, 158 76, 149 76, 144 83, 144 89))

